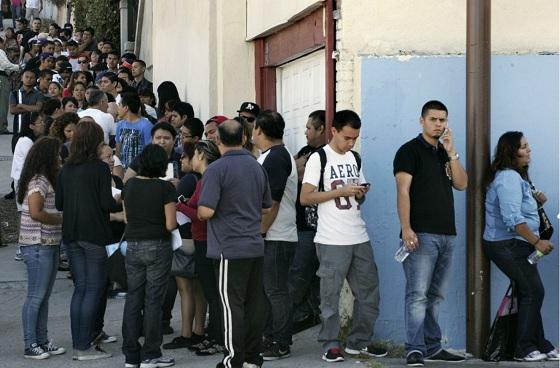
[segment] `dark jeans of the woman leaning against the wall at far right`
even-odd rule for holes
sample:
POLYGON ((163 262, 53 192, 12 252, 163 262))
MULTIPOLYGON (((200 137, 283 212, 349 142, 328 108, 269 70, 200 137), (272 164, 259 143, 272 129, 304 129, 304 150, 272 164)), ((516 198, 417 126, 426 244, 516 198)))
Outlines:
POLYGON ((515 282, 519 311, 515 356, 523 358, 534 350, 548 353, 554 346, 544 338, 541 307, 544 286, 537 265, 527 262, 535 248, 525 241, 484 241, 484 251, 498 268, 515 282))

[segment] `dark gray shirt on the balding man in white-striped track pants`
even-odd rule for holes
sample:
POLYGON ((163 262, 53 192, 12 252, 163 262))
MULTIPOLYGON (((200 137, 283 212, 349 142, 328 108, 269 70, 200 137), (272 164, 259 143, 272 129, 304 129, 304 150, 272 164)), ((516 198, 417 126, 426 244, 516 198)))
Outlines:
POLYGON ((262 209, 272 206, 270 187, 247 150, 227 152, 208 166, 198 205, 215 211, 208 221, 208 258, 264 256, 260 227, 262 209))

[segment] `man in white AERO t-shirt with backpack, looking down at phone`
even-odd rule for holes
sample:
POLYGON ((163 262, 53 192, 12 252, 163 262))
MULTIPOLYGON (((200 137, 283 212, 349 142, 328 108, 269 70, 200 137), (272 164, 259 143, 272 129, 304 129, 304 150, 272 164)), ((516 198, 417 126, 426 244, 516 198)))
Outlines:
POLYGON ((379 315, 379 280, 360 213, 369 184, 361 171, 358 154, 351 151, 360 127, 360 117, 355 112, 343 110, 335 114, 332 139, 309 157, 300 194, 302 205, 319 205, 314 240, 320 263, 317 276, 321 279, 322 325, 318 340, 323 344, 323 360, 327 362, 344 360, 338 337, 338 303, 344 279, 355 297, 346 353, 387 355, 385 349, 371 343, 379 315))

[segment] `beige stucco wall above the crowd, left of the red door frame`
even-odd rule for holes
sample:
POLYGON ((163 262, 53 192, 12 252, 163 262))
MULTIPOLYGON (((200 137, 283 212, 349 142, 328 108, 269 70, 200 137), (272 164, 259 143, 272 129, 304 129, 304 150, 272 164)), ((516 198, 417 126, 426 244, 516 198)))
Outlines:
POLYGON ((151 9, 154 88, 173 81, 203 121, 233 116, 242 101, 255 99, 244 0, 153 1, 151 9))

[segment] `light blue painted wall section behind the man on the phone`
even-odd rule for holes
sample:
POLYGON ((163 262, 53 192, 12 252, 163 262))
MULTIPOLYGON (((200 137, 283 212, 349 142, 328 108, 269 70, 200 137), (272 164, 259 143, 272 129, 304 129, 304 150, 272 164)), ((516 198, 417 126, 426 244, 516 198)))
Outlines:
MULTIPOLYGON (((492 59, 492 147, 507 130, 521 130, 533 149, 531 175, 549 198, 546 210, 558 213, 558 55, 494 56, 492 59)), ((381 282, 381 315, 376 336, 404 340, 404 276, 393 260, 399 222, 392 162, 396 150, 420 132, 418 118, 430 99, 443 101, 455 145, 465 163, 466 61, 464 57, 362 59, 361 152, 373 191, 363 206, 381 282)), ((437 198, 434 198, 437 200, 437 198)), ((444 344, 466 345, 466 195, 455 191, 457 243, 447 299, 440 311, 444 344)), ((558 226, 556 226, 558 228, 558 226)), ((558 245, 558 231, 554 244, 558 245)), ((539 265, 547 296, 543 306, 546 336, 558 343, 558 247, 539 265)), ((492 314, 507 281, 492 272, 492 314)))

